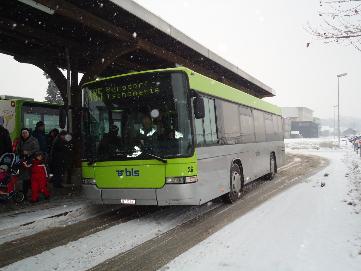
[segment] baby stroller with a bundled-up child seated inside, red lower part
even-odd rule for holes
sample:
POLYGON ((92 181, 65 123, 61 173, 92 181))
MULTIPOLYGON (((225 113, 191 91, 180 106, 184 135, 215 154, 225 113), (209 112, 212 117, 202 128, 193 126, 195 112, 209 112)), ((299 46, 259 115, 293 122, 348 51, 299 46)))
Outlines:
POLYGON ((12 152, 7 152, 0 158, 0 165, 7 165, 8 175, 5 176, 0 184, 0 199, 9 199, 13 197, 14 202, 20 203, 24 200, 24 193, 17 188, 17 173, 20 163, 19 158, 12 152))

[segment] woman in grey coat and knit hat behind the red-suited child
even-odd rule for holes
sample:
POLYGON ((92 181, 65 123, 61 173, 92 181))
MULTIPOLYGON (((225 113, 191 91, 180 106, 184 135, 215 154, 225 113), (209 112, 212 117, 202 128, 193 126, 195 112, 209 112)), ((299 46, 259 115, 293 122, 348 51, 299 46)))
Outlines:
MULTIPOLYGON (((39 142, 33 136, 30 136, 29 129, 22 128, 21 129, 21 140, 18 144, 18 149, 15 154, 20 155, 20 159, 30 160, 36 151, 39 151, 39 142)), ((25 198, 27 198, 27 192, 30 188, 30 178, 31 178, 31 170, 25 169, 23 167, 19 168, 19 176, 23 181, 23 192, 25 198)))

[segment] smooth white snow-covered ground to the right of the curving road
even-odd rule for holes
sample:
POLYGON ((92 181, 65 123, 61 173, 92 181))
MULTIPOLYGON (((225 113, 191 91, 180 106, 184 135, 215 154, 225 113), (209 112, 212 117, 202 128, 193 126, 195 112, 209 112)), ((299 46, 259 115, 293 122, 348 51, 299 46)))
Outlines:
POLYGON ((287 152, 322 156, 331 164, 161 270, 361 270, 361 159, 351 144, 342 144, 287 139, 287 152))

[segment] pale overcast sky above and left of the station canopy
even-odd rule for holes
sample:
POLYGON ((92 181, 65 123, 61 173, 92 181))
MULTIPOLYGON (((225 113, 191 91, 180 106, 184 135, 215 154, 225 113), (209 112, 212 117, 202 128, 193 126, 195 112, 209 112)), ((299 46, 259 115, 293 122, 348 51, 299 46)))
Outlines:
MULTIPOLYGON (((266 98, 280 107, 307 107, 333 118, 340 77, 340 116, 360 116, 361 52, 336 43, 310 44, 307 21, 319 27, 319 0, 136 0, 190 38, 276 91, 266 98)), ((43 71, 0 55, 0 94, 43 100, 43 71)), ((337 107, 336 107, 337 115, 337 107)))

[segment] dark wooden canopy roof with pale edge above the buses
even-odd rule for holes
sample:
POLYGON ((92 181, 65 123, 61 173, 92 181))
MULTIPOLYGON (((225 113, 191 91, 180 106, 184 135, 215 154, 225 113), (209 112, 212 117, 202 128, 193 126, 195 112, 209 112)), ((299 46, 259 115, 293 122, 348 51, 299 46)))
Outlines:
POLYGON ((181 65, 259 98, 275 91, 131 0, 17 0, 0 3, 0 53, 22 63, 66 68, 65 48, 84 82, 181 65))

